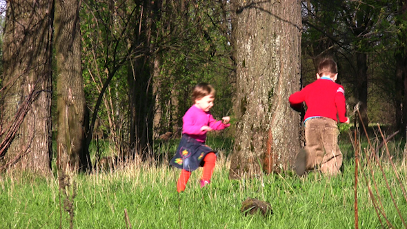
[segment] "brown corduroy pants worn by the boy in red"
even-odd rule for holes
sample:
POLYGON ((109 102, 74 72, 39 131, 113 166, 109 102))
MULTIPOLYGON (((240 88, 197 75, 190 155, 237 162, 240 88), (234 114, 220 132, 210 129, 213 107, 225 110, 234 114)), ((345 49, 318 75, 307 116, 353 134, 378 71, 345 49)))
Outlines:
POLYGON ((328 175, 337 175, 342 166, 338 136, 337 122, 333 119, 318 117, 306 121, 306 170, 319 168, 328 175))

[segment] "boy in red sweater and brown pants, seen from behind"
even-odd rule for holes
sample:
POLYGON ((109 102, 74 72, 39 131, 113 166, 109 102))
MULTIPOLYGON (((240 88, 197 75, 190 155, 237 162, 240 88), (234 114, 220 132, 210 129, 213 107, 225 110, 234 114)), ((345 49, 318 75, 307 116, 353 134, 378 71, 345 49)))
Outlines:
POLYGON ((337 175, 342 165, 337 115, 341 123, 349 123, 349 118, 346 117, 345 90, 335 83, 337 77, 337 63, 324 59, 319 63, 317 80, 290 95, 293 108, 301 108, 304 101, 307 106, 304 117, 306 147, 295 158, 295 171, 300 177, 306 170, 315 168, 324 174, 337 175))

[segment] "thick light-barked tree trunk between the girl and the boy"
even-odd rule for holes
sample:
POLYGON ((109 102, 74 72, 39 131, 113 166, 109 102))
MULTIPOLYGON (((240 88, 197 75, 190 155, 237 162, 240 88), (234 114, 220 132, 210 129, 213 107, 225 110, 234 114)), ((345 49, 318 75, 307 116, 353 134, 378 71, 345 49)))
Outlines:
POLYGON ((288 170, 300 148, 300 1, 236 1, 237 135, 230 179, 288 170))

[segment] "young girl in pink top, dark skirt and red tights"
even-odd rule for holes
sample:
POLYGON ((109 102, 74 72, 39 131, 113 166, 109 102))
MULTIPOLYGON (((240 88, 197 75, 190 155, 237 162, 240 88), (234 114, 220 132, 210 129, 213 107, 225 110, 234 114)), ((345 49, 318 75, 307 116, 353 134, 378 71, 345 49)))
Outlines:
POLYGON ((191 172, 203 166, 200 181, 201 188, 210 183, 215 168, 215 150, 205 145, 206 132, 223 130, 230 126, 230 117, 216 121, 210 115, 210 108, 215 100, 215 89, 208 83, 199 83, 192 92, 192 105, 182 118, 182 138, 175 156, 171 159, 172 166, 181 169, 177 182, 177 192, 183 192, 191 172))

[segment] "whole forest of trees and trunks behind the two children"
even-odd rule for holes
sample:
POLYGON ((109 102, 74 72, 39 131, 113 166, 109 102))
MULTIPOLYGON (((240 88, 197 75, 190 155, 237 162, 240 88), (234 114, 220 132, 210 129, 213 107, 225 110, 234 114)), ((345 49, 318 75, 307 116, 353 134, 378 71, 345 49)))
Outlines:
POLYGON ((217 90, 212 115, 232 117, 210 136, 231 146, 229 177, 288 171, 304 145, 304 109, 290 110, 288 95, 324 57, 338 63, 353 126, 406 135, 405 0, 8 1, 2 15, 1 170, 168 161, 163 143, 176 145, 205 81, 217 90), (249 72, 261 68, 272 74, 249 72))

